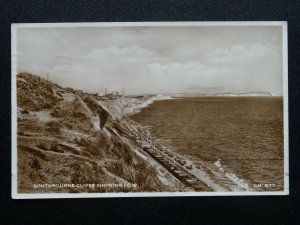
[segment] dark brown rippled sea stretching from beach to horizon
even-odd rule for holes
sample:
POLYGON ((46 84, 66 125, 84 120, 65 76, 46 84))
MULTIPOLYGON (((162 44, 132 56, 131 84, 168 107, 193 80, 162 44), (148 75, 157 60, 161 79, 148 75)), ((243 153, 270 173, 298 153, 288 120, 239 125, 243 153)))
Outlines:
MULTIPOLYGON (((206 171, 222 168, 254 191, 284 188, 282 97, 173 98, 155 101, 131 118, 206 171)), ((226 186, 224 177, 208 174, 226 186)))

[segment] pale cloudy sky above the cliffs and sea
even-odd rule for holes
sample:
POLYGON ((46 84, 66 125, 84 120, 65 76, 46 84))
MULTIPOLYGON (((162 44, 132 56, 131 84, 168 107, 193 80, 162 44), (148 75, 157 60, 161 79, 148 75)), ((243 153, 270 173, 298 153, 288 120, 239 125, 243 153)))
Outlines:
POLYGON ((18 28, 17 72, 91 93, 282 95, 281 26, 18 28))

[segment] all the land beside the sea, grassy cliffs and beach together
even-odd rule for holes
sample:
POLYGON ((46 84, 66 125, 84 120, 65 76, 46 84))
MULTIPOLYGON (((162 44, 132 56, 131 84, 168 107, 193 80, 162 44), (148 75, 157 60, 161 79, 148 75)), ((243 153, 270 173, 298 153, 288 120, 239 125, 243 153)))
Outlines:
MULTIPOLYGON (((34 183, 57 182, 58 167, 65 171, 60 174, 61 179, 77 183, 135 182, 139 187, 133 192, 234 191, 218 185, 203 165, 176 153, 168 144, 159 145, 147 126, 130 119, 130 115, 155 101, 178 98, 97 97, 27 73, 19 74, 17 81, 20 94, 16 173, 17 181, 24 183, 18 186, 21 192, 38 192, 32 189, 34 183), (108 113, 103 129, 99 126, 99 107, 108 113)), ((63 191, 77 190, 43 190, 63 191)), ((98 191, 104 190, 85 188, 79 192, 98 191)))

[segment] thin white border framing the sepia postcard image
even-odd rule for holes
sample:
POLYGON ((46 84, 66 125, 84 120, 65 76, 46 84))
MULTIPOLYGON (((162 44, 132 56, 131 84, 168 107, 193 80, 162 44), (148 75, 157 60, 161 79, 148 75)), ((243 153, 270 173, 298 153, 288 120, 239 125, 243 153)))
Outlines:
POLYGON ((111 197, 183 197, 183 196, 265 196, 289 194, 289 134, 288 134, 288 55, 287 22, 101 22, 101 23, 18 23, 11 25, 11 120, 12 120, 12 198, 13 199, 49 199, 49 198, 111 198, 111 197), (136 26, 281 26, 283 58, 283 101, 284 101, 284 191, 278 192, 140 192, 140 193, 42 193, 19 194, 17 192, 17 29, 19 28, 63 28, 63 27, 136 27, 136 26))

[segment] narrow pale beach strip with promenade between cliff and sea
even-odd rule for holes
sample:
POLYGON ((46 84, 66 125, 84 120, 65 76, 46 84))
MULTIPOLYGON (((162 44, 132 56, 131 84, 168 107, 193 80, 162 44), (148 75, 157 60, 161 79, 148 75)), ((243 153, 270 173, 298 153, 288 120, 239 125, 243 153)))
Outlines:
MULTIPOLYGON (((170 149, 167 145, 156 144, 156 138, 153 137, 150 131, 137 122, 133 122, 129 116, 139 113, 142 108, 148 107, 154 101, 159 100, 167 100, 167 99, 177 99, 170 97, 151 97, 143 99, 136 104, 136 101, 133 101, 134 104, 124 104, 125 106, 130 105, 129 108, 125 107, 125 110, 121 110, 123 114, 118 119, 122 119, 123 123, 127 124, 127 129, 129 130, 132 137, 137 141, 143 150, 143 153, 148 154, 153 160, 158 162, 160 166, 164 169, 168 170, 174 177, 176 177, 180 182, 182 182, 187 187, 193 188, 194 191, 198 189, 201 191, 216 191, 216 192, 227 192, 227 191, 251 191, 249 188, 249 184, 246 183, 243 179, 238 178, 235 174, 224 171, 222 165, 219 163, 216 165, 211 165, 215 167, 217 172, 221 172, 218 176, 223 177, 223 179, 227 178, 231 183, 232 187, 226 187, 220 185, 216 182, 213 177, 208 175, 207 168, 204 169, 203 165, 198 165, 199 163, 195 163, 193 160, 188 159, 174 150, 170 149), (129 128, 128 128, 129 127, 129 128), (132 129, 135 127, 135 129, 132 129), (236 187, 234 187, 236 186, 236 187), (200 188, 201 187, 201 188, 200 188)), ((127 101, 132 100, 132 98, 127 99, 127 101)), ((123 101, 124 103, 124 101, 123 101)), ((120 112, 120 111, 118 111, 120 112)), ((116 116, 115 111, 111 112, 114 116, 116 116)), ((125 128, 126 129, 126 128, 125 128)), ((200 163, 201 164, 201 163, 200 163)))

